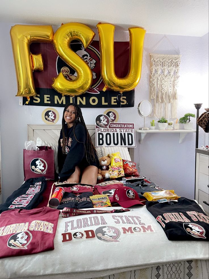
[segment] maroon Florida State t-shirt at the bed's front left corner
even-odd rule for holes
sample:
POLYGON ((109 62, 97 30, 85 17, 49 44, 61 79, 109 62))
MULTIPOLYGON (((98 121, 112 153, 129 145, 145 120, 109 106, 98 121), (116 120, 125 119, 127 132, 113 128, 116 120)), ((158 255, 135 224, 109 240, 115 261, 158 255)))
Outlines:
POLYGON ((59 214, 49 207, 2 212, 0 258, 53 250, 59 214))

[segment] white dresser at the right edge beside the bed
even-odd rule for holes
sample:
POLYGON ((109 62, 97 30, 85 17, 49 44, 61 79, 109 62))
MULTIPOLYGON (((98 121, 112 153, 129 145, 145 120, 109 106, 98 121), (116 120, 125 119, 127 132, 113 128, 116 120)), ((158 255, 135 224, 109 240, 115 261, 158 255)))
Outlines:
POLYGON ((209 152, 200 148, 196 152, 195 199, 209 212, 209 152))

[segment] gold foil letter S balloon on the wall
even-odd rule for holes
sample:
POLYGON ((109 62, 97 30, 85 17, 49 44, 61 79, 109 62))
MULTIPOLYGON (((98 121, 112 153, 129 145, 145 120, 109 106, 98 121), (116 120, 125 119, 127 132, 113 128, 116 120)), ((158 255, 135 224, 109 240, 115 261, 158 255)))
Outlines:
POLYGON ((78 96, 86 92, 91 86, 93 80, 91 69, 78 54, 72 51, 70 42, 79 40, 84 48, 87 48, 94 36, 95 33, 91 28, 76 22, 63 24, 55 32, 53 40, 55 51, 77 73, 75 80, 67 80, 62 72, 53 78, 51 86, 62 95, 78 96))

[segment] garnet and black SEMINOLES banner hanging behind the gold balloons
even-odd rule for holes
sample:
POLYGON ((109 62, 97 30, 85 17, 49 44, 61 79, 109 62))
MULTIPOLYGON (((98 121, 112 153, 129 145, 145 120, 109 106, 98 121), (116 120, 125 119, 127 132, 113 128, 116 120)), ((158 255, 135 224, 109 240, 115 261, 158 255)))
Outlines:
MULTIPOLYGON (((91 68, 93 83, 87 92, 80 96, 62 96, 51 87, 53 78, 62 72, 68 80, 74 80, 77 73, 67 65, 55 52, 53 44, 33 43, 30 51, 33 54, 41 53, 43 56, 44 70, 34 71, 34 84, 37 95, 30 98, 29 105, 64 107, 68 103, 78 104, 81 108, 120 108, 134 106, 134 90, 129 92, 103 91, 103 83, 100 70, 99 41, 93 41, 91 45, 83 49, 78 41, 73 41, 70 47, 91 68)), ((118 77, 126 77, 129 68, 129 42, 114 42, 115 73, 118 77)), ((23 104, 27 101, 23 98, 23 104)))

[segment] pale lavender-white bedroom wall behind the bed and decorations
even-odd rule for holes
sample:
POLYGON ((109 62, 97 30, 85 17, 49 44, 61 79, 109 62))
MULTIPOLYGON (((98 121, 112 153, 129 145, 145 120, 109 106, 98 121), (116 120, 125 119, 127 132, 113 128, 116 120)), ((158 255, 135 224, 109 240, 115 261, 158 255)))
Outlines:
MULTIPOLYGON (((17 23, 15 23, 17 24, 17 23)), ((27 140, 27 124, 44 124, 41 113, 46 107, 19 106, 16 74, 9 31, 14 23, 1 23, 1 99, 0 131, 2 156, 3 201, 21 186, 23 176, 23 148, 27 140)), ((54 28, 54 31, 56 28, 54 28)), ((94 30, 96 33, 96 29, 94 30)), ((163 35, 146 34, 141 80, 135 88, 134 108, 118 108, 121 122, 134 122, 138 128, 143 119, 137 113, 137 105, 149 100, 149 53, 163 35)), ((178 118, 185 113, 196 114, 194 103, 203 103, 200 113, 208 106, 208 35, 200 37, 167 35, 177 51, 182 54, 179 82, 178 118), (201 86, 200 86, 201 84, 201 86), (205 88, 204 88, 205 86, 205 88)), ((98 36, 95 38, 98 40, 98 36)), ((128 32, 116 28, 115 41, 128 40, 128 32)), ((155 53, 175 54, 168 40, 163 40, 155 53)), ((63 108, 56 108, 62 115, 63 108)), ((105 108, 83 108, 86 124, 94 124, 95 116, 105 108)), ((150 119, 146 120, 149 125, 150 119)), ((193 119, 194 129, 196 120, 193 119)), ((61 124, 61 118, 57 124, 61 124)), ((139 135, 136 133, 137 142, 139 135)), ((200 128, 200 144, 207 144, 206 133, 200 128)), ((188 134, 179 144, 179 134, 149 134, 135 148, 135 161, 142 175, 166 189, 174 189, 180 196, 194 198, 195 185, 195 133, 188 134)))

